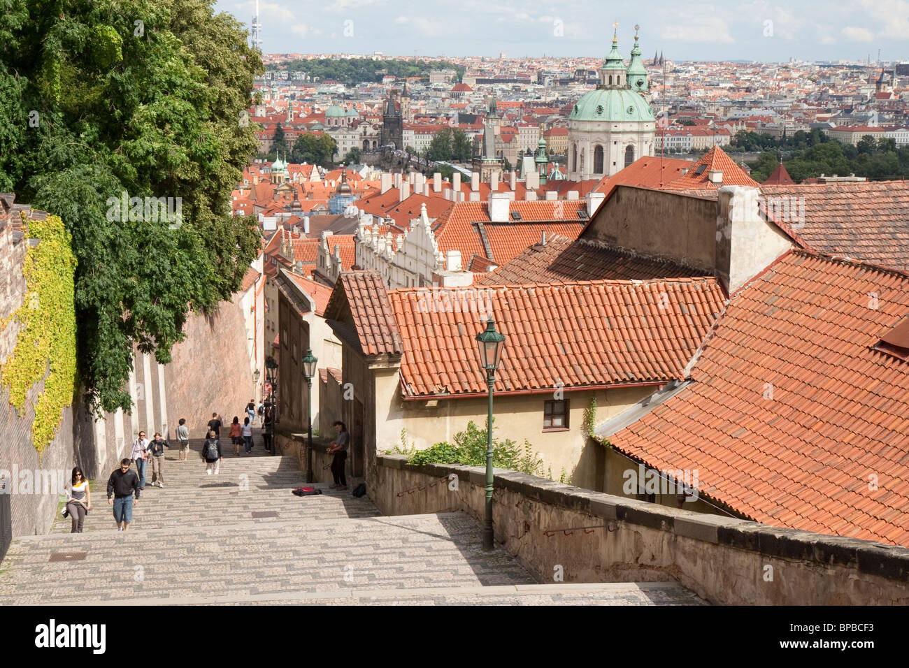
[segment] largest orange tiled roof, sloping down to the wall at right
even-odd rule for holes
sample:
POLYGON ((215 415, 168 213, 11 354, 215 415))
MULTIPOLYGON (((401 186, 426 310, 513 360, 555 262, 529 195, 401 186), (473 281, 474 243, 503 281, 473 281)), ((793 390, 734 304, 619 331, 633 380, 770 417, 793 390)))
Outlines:
POLYGON ((906 314, 909 274, 785 254, 734 295, 694 383, 610 441, 758 522, 909 545, 909 362, 874 349, 906 314))

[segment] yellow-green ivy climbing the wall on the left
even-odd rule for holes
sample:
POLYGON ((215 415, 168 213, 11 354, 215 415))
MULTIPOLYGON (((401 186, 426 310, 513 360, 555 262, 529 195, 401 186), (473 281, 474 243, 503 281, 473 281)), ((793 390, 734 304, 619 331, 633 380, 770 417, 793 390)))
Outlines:
POLYGON ((23 228, 25 239, 38 243, 29 244, 25 253, 23 304, 0 323, 0 331, 14 320, 20 324, 15 349, 0 364, 0 382, 9 387, 10 403, 22 415, 29 391, 45 379, 32 424, 32 443, 43 453, 75 393, 76 261, 59 216, 24 221, 23 228))

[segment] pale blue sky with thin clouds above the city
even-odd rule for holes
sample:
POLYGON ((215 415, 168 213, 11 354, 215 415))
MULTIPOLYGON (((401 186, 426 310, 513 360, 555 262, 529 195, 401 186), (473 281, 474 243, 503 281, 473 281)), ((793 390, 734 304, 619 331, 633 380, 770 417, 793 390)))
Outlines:
MULTIPOLYGON (((245 25, 254 7, 215 3, 245 25)), ((259 0, 259 17, 266 54, 598 57, 617 22, 623 54, 640 25, 644 58, 909 60, 909 0, 259 0)))

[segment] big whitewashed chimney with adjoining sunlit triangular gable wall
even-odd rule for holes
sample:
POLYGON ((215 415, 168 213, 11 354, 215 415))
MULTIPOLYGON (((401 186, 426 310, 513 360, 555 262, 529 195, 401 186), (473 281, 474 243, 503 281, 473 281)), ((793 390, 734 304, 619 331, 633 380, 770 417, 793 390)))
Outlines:
POLYGON ((780 255, 792 241, 758 211, 757 188, 724 185, 719 189, 714 266, 728 293, 734 293, 780 255))

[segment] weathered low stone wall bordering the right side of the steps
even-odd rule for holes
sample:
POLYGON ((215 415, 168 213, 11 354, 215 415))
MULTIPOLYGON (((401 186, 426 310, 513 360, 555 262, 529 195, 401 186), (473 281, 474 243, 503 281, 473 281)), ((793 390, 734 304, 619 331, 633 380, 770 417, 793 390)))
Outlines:
MULTIPOLYGON (((367 492, 386 514, 481 520, 482 467, 377 457, 367 492), (448 476, 458 476, 457 489, 448 476)), ((710 603, 909 604, 909 549, 591 492, 496 470, 495 540, 541 582, 673 579, 710 603)))

